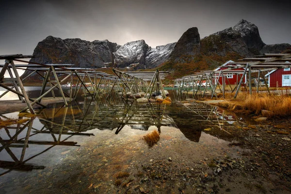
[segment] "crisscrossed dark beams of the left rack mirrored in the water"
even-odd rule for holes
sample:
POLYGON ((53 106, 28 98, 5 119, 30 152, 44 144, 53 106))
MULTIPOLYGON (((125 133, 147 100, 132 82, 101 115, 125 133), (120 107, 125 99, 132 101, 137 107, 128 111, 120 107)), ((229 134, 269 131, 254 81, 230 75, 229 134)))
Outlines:
MULTIPOLYGON (((65 107, 67 109, 67 107, 65 107)), ((0 117, 7 118, 4 115, 0 115, 0 117)), ((19 117, 19 119, 22 119, 22 117, 19 117)), ((33 169, 44 169, 45 166, 37 166, 37 165, 32 165, 32 164, 26 164, 26 162, 29 162, 36 156, 41 155, 42 153, 48 151, 54 146, 78 146, 77 142, 72 142, 72 141, 67 141, 70 137, 74 135, 86 135, 86 136, 91 136, 94 135, 92 133, 74 133, 74 132, 63 132, 63 128, 61 128, 58 132, 54 132, 52 128, 46 128, 48 124, 51 124, 52 122, 46 123, 42 129, 38 130, 33 128, 33 121, 34 118, 31 118, 29 121, 27 121, 25 124, 17 124, 15 126, 9 126, 9 127, 4 127, 4 130, 6 132, 6 135, 9 137, 8 140, 4 140, 0 136, 0 152, 5 150, 13 162, 10 161, 0 161, 0 168, 3 169, 8 169, 8 171, 3 172, 1 175, 4 175, 6 173, 9 173, 12 170, 20 170, 20 171, 31 171, 33 169), (12 136, 9 130, 16 130, 15 134, 12 136), (26 131, 26 136, 23 138, 18 138, 20 133, 24 132, 24 130, 27 129, 26 131), (50 134, 53 138, 53 141, 41 141, 41 140, 29 140, 30 137, 36 135, 36 134, 50 134), (58 134, 58 138, 54 135, 58 134), (62 134, 69 135, 65 139, 61 139, 62 134), (31 156, 30 158, 24 160, 24 156, 26 153, 27 148, 29 148, 29 145, 50 145, 48 148, 45 150, 36 153, 35 155, 31 156), (16 147, 16 148, 22 148, 20 158, 17 158, 16 155, 13 153, 13 151, 10 149, 10 147, 16 147)), ((64 123, 62 123, 64 124, 64 123)))

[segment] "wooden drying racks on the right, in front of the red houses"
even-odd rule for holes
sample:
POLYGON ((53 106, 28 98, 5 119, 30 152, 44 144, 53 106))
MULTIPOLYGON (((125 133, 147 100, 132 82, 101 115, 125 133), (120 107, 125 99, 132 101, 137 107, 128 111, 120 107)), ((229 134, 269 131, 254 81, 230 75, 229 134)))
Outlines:
POLYGON ((178 92, 186 90, 186 93, 189 93, 189 89, 192 87, 193 96, 200 92, 202 97, 205 96, 207 90, 210 90, 211 98, 213 98, 214 96, 217 97, 217 89, 225 97, 226 86, 228 86, 231 93, 235 92, 234 98, 236 98, 240 90, 248 91, 250 95, 252 95, 252 91, 259 93, 262 90, 261 78, 264 81, 263 85, 270 94, 270 89, 263 72, 291 67, 290 64, 285 63, 286 61, 291 61, 291 54, 264 54, 257 55, 254 58, 244 58, 239 60, 239 62, 229 63, 227 66, 219 66, 226 69, 202 71, 194 75, 176 79, 173 89, 176 86, 178 92), (244 70, 239 70, 239 68, 243 68, 244 70), (252 74, 254 75, 254 73, 258 73, 258 79, 252 78, 252 74), (237 74, 237 77, 240 76, 240 79, 237 80, 235 85, 230 85, 227 79, 227 76, 232 74, 237 74), (222 78, 222 83, 219 82, 220 78, 222 78), (244 78, 246 83, 243 82, 244 78), (255 88, 253 88, 252 82, 255 82, 255 88))

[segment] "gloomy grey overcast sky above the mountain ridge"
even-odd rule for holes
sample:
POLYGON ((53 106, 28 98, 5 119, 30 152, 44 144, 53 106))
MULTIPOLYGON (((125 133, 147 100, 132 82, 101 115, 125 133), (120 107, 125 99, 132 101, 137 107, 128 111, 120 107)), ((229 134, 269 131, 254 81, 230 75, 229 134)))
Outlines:
POLYGON ((0 0, 0 55, 32 54, 52 35, 151 47, 176 42, 188 28, 200 37, 246 19, 266 44, 291 43, 291 0, 0 0))

